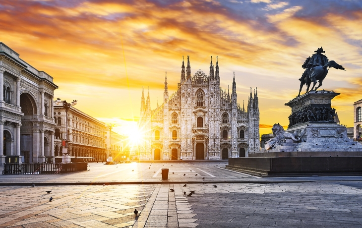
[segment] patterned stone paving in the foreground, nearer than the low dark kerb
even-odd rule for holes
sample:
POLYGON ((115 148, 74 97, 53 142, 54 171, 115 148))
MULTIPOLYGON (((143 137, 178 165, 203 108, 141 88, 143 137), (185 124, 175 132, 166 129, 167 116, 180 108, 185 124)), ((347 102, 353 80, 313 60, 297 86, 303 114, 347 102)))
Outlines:
POLYGON ((361 189, 362 181, 0 186, 0 227, 361 228, 361 189))

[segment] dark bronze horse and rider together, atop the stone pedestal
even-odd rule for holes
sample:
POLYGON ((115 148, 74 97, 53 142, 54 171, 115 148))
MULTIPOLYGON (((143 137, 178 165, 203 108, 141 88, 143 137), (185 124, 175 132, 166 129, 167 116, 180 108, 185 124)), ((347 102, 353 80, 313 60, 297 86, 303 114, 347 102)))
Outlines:
POLYGON ((328 58, 323 55, 322 53, 325 53, 323 51, 323 48, 318 48, 317 51, 314 51, 315 54, 312 55, 312 57, 307 57, 305 59, 305 62, 302 65, 302 68, 305 69, 302 77, 299 79, 301 81, 301 86, 299 89, 298 97, 301 95, 302 87, 305 84, 307 86, 306 93, 309 91, 310 83, 313 82, 313 86, 310 91, 314 89, 315 84, 317 81, 319 82, 318 86, 315 87, 314 90, 317 90, 324 80, 324 78, 327 76, 328 69, 330 67, 334 67, 336 69, 345 70, 342 65, 339 65, 333 60, 328 61, 328 58))

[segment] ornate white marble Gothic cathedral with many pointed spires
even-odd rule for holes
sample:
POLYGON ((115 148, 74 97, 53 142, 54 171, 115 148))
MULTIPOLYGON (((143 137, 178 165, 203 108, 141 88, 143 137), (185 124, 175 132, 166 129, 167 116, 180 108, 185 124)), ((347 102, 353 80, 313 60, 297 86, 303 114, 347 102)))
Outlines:
POLYGON ((163 104, 151 110, 150 96, 142 90, 139 129, 144 141, 140 160, 226 160, 248 157, 259 150, 257 91, 248 99, 247 111, 237 103, 235 74, 232 93, 220 88, 219 64, 210 63, 207 76, 182 60, 181 81, 169 95, 167 75, 163 104))

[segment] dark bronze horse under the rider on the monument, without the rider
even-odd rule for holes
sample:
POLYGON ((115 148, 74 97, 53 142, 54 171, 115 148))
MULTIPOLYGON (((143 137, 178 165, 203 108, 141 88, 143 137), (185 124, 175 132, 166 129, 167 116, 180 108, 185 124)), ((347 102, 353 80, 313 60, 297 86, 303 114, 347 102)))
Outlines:
MULTIPOLYGON (((307 62, 307 60, 304 62, 304 64, 307 62)), ((319 84, 314 89, 314 90, 317 90, 322 85, 324 78, 327 76, 328 69, 331 67, 336 68, 336 69, 345 70, 345 68, 342 65, 339 65, 338 63, 336 63, 333 60, 330 60, 323 66, 314 66, 309 70, 306 69, 303 72, 302 77, 299 79, 301 81, 301 86, 299 89, 298 97, 301 95, 302 87, 304 84, 307 86, 307 88, 306 88, 306 93, 307 93, 309 91, 310 83, 313 82, 313 86, 310 90, 310 91, 312 91, 314 89, 315 84, 318 81, 319 84), (310 72, 308 72, 308 71, 310 71, 310 72)))

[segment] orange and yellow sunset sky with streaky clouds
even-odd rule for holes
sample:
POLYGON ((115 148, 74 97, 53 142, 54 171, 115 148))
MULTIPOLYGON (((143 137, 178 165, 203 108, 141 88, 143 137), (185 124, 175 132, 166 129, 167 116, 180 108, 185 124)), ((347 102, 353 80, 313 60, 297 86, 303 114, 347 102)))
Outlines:
POLYGON ((341 93, 332 106, 353 126, 361 22, 361 0, 0 0, 0 42, 54 77, 56 98, 78 100, 77 109, 120 133, 139 118, 142 87, 152 109, 162 103, 166 71, 169 94, 176 91, 182 56, 192 75, 208 75, 218 56, 221 87, 235 71, 240 104, 257 87, 261 134, 287 126, 284 104, 320 47, 346 68, 330 69, 320 89, 341 93))

